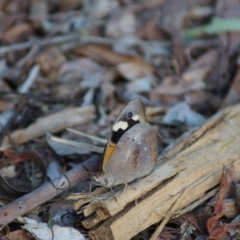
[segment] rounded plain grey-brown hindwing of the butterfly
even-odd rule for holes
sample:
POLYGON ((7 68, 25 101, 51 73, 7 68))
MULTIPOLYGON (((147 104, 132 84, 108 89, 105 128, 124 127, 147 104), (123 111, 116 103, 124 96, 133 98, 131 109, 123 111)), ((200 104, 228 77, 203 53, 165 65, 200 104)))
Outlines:
POLYGON ((153 170, 157 156, 155 132, 148 123, 136 124, 116 144, 105 166, 105 175, 110 176, 114 185, 132 182, 153 170))

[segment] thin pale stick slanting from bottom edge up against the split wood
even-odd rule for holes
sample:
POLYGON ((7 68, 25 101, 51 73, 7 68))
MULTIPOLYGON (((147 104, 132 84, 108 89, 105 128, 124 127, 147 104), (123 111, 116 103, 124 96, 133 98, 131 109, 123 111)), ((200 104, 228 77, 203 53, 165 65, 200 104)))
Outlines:
POLYGON ((162 220, 161 224, 158 226, 158 228, 156 229, 156 231, 154 232, 154 234, 152 235, 152 237, 150 238, 150 240, 156 240, 159 236, 159 234, 162 232, 164 226, 167 224, 167 222, 169 221, 169 219, 175 215, 175 211, 177 210, 177 208, 179 207, 179 204, 181 203, 182 199, 185 197, 186 195, 186 190, 184 190, 182 192, 182 194, 180 195, 180 197, 175 201, 175 203, 173 204, 172 208, 170 209, 170 211, 168 212, 168 214, 166 214, 165 218, 162 220))

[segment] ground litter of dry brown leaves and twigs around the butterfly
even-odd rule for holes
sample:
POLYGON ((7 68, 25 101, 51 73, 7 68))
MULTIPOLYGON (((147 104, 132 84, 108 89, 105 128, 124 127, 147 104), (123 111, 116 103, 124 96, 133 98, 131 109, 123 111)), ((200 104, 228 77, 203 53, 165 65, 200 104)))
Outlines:
MULTIPOLYGON (((1 182, 1 206, 17 199, 15 190, 28 192, 30 179, 42 176, 47 183, 47 175, 54 181, 101 156, 116 116, 133 98, 143 101, 148 121, 164 138, 161 151, 220 109, 239 103, 240 8, 234 0, 4 0, 0 8, 0 173, 11 179, 1 182), (37 171, 27 155, 33 150, 47 173, 37 171)), ((169 216, 156 239, 238 239, 234 169, 224 168, 219 184, 215 198, 169 216)), ((89 187, 75 185, 78 192, 89 187)), ((66 207, 73 204, 69 194, 65 190, 55 198, 56 203, 64 199, 57 206, 64 214, 50 211, 54 202, 47 198, 30 204, 40 212, 27 207, 24 218, 18 218, 21 212, 13 216, 19 221, 0 221, 1 239, 9 233, 12 239, 25 236, 35 227, 34 239, 47 239, 45 231, 49 239, 60 239, 58 231, 66 232, 65 239, 73 233, 87 238, 80 215, 63 220, 72 214, 66 207)), ((156 229, 153 225, 134 239, 150 239, 156 229)))

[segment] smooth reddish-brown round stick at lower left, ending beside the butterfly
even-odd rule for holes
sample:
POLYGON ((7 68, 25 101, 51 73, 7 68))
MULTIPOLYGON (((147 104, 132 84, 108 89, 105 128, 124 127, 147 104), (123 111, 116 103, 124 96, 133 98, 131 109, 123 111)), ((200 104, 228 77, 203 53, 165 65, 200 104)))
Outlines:
POLYGON ((47 202, 60 193, 74 187, 80 181, 89 177, 90 172, 96 172, 99 165, 96 156, 91 157, 83 164, 79 164, 74 169, 61 175, 60 178, 48 182, 36 190, 14 200, 13 202, 0 208, 0 230, 19 216, 24 215, 33 208, 47 202))

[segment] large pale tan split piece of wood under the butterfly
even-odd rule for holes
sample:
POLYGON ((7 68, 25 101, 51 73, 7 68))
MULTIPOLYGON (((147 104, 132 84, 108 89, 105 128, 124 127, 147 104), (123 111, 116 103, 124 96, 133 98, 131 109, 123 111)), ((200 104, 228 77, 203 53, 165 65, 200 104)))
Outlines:
MULTIPOLYGON (((91 239, 131 239, 164 219, 182 195, 176 212, 217 188, 223 166, 240 178, 240 105, 227 108, 198 130, 185 134, 160 157, 153 173, 119 193, 84 209, 91 239), (136 202, 137 199, 137 202, 136 202), (101 224, 99 224, 101 223, 101 224)), ((200 203, 201 201, 199 201, 200 203)))

